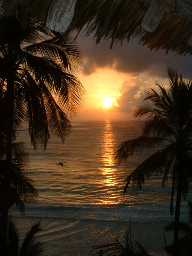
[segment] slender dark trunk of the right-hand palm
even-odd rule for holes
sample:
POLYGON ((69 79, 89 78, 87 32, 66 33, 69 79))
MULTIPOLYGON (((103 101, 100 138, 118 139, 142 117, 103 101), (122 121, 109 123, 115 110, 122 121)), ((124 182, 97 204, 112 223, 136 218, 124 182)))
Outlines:
POLYGON ((174 219, 174 256, 179 254, 179 217, 180 217, 180 205, 182 196, 182 179, 178 179, 177 182, 177 197, 175 206, 175 219, 174 219))

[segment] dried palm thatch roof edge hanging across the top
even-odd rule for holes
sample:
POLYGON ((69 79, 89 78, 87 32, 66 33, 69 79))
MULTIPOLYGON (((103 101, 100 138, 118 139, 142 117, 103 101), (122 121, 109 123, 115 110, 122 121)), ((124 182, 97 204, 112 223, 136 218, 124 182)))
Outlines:
POLYGON ((67 32, 94 33, 96 44, 110 39, 111 48, 138 37, 150 50, 192 54, 191 0, 2 0, 2 4, 8 15, 20 11, 23 27, 27 15, 47 18, 52 30, 65 32, 68 22, 67 32))

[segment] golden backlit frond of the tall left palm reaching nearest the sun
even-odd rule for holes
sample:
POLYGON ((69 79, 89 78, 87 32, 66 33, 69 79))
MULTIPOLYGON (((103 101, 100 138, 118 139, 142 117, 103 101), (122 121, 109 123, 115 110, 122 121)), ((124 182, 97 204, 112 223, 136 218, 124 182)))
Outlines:
POLYGON ((36 56, 27 56, 26 68, 34 70, 36 79, 40 84, 46 84, 66 114, 75 116, 82 108, 86 91, 76 76, 63 70, 56 62, 36 56))

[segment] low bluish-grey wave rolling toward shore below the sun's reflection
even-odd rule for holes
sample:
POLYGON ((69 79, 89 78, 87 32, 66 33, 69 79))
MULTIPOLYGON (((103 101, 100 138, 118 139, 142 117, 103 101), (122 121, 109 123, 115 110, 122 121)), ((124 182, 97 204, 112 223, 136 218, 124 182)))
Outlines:
MULTIPOLYGON (((15 211, 14 211, 15 212, 15 211)), ((14 216, 18 214, 12 213, 14 216)), ((186 208, 181 210, 181 215, 186 216, 186 208)), ((168 205, 145 204, 112 204, 112 205, 86 205, 86 206, 27 206, 27 218, 44 219, 52 221, 79 221, 79 222, 132 222, 150 223, 171 221, 172 216, 168 205)))

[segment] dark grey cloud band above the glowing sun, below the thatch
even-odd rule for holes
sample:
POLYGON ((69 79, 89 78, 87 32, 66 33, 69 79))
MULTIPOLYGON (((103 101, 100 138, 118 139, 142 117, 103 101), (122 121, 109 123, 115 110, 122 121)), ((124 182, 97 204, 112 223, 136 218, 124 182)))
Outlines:
POLYGON ((167 77, 167 67, 173 67, 186 78, 192 76, 192 56, 174 56, 164 50, 150 51, 146 46, 138 44, 138 39, 124 40, 114 44, 110 50, 110 40, 102 40, 95 44, 91 36, 78 35, 77 43, 83 51, 86 75, 94 73, 96 68, 114 68, 116 71, 138 75, 145 72, 150 77, 167 77))

